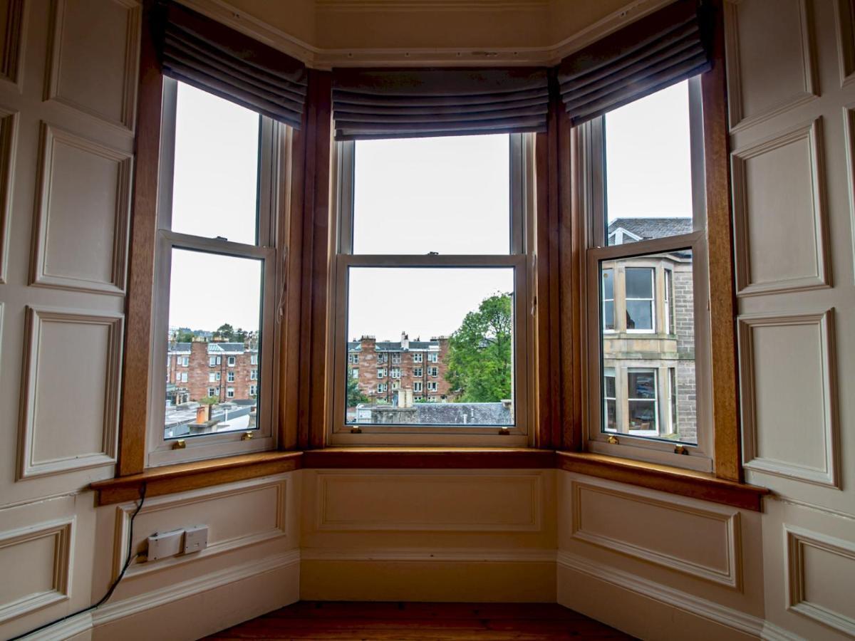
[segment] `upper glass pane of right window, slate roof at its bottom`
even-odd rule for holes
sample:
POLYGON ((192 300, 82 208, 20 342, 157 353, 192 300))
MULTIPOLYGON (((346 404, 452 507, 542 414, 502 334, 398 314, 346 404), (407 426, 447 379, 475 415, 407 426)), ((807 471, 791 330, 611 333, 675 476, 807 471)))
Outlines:
POLYGON ((692 231, 688 80, 605 115, 606 244, 692 231))

